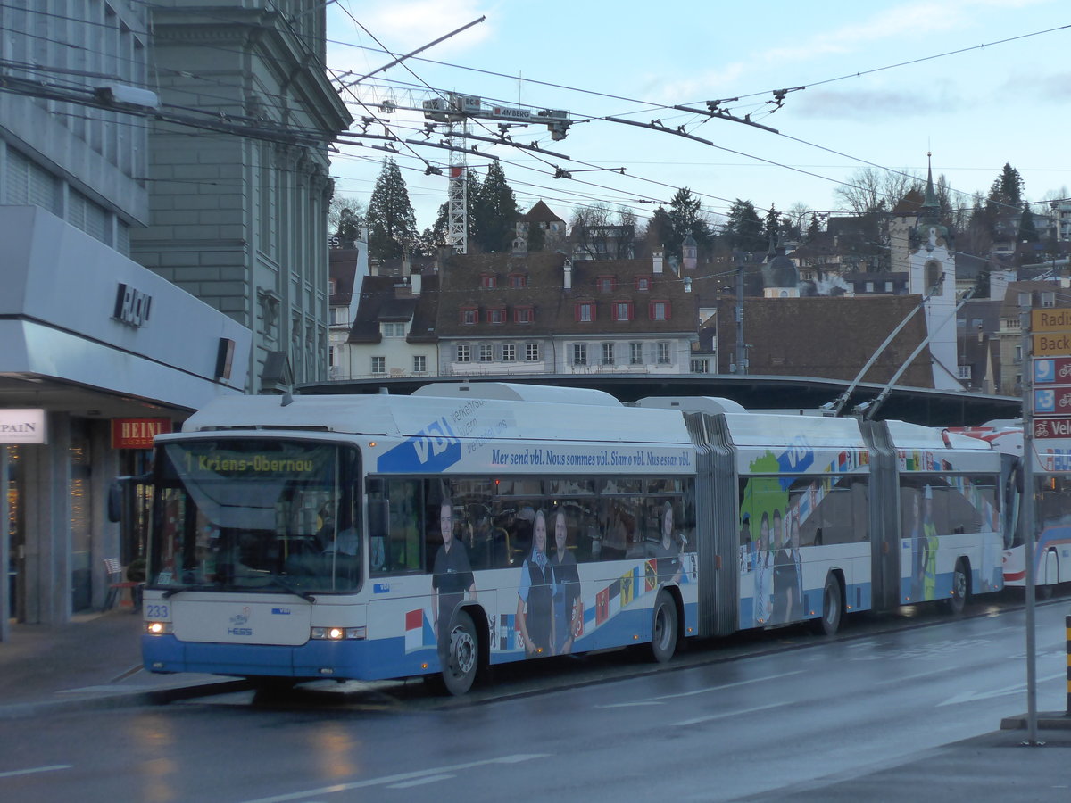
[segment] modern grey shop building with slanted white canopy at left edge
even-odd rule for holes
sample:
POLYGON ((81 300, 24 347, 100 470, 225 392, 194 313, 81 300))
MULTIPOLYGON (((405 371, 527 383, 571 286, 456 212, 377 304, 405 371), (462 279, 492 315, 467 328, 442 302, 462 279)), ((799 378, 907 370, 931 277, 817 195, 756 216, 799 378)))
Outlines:
POLYGON ((72 3, 63 26, 48 11, 0 7, 0 638, 12 618, 103 604, 104 559, 139 546, 107 521, 108 484, 145 469, 152 433, 240 393, 251 345, 130 259, 149 137, 116 99, 153 101, 147 6, 72 3), (58 75, 66 89, 45 91, 58 75))

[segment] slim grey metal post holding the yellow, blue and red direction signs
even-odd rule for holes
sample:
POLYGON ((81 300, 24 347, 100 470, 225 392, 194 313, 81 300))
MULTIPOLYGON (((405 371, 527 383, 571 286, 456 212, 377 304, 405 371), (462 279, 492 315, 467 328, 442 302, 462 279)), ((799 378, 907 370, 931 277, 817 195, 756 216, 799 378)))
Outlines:
POLYGON ((1023 541, 1026 562, 1026 724, 1027 744, 1038 746, 1038 660, 1035 636, 1034 521, 1036 494, 1034 488, 1034 339, 1030 309, 1020 315, 1023 332, 1023 541))

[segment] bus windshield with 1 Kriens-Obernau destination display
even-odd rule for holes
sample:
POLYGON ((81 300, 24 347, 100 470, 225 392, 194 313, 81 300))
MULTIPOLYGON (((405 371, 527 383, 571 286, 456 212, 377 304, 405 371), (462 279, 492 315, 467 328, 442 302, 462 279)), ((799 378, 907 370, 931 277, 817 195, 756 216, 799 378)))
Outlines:
POLYGON ((156 465, 151 588, 302 596, 360 588, 356 449, 199 439, 164 444, 156 465))

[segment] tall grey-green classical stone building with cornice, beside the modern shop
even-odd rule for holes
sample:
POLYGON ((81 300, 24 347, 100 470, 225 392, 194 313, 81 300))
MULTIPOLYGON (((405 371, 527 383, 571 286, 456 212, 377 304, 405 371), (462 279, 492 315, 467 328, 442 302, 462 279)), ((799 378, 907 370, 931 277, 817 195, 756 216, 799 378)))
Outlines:
POLYGON ((153 123, 132 256, 254 332, 251 393, 327 378, 327 146, 351 118, 327 78, 323 5, 152 6, 161 100, 202 127, 153 123))

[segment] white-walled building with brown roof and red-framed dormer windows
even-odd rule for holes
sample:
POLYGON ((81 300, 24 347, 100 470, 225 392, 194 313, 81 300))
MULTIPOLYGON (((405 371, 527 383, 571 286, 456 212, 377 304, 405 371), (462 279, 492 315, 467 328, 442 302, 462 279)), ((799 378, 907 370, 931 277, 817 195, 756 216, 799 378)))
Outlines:
POLYGON ((687 374, 691 278, 648 260, 454 255, 440 271, 440 375, 687 374))

